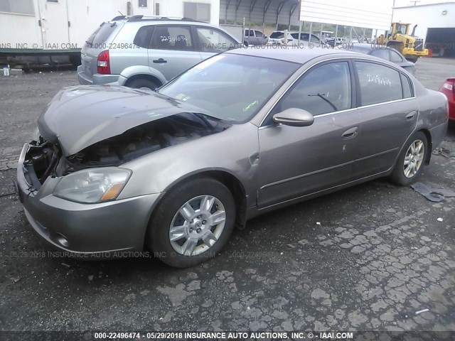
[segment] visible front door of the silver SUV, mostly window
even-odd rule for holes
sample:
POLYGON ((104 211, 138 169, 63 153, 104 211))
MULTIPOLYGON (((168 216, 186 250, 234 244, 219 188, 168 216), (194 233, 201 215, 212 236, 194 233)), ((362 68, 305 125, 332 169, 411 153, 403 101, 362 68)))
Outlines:
POLYGON ((202 60, 205 60, 215 53, 225 52, 237 48, 239 43, 223 31, 206 26, 194 28, 196 37, 196 50, 200 53, 202 60))

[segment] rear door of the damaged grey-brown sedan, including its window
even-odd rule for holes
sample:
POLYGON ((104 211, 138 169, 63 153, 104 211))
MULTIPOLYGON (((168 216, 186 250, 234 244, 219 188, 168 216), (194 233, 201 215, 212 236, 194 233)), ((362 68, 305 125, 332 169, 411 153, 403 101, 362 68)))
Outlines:
POLYGON ((393 166, 417 124, 419 106, 411 80, 400 70, 356 60, 358 82, 358 160, 353 175, 363 178, 393 166))

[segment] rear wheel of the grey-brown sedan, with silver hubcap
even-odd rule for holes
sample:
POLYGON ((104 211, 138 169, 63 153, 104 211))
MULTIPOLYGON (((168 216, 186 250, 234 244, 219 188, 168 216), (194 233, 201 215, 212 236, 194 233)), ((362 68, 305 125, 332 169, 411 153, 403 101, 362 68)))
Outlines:
POLYGON ((428 152, 427 136, 422 131, 418 131, 411 136, 411 139, 407 141, 405 148, 400 153, 397 164, 392 175, 390 175, 391 180, 397 185, 402 186, 414 183, 422 173, 428 152), (412 148, 414 148, 415 152, 412 151, 412 148), (408 163, 407 165, 405 165, 405 159, 408 163))

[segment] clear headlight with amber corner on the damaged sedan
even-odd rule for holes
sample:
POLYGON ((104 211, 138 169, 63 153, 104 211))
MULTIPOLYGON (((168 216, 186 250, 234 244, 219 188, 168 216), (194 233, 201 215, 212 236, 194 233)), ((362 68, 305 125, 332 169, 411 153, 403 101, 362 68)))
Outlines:
POLYGON ((125 168, 90 168, 66 175, 53 195, 84 203, 114 200, 122 192, 132 171, 125 168))

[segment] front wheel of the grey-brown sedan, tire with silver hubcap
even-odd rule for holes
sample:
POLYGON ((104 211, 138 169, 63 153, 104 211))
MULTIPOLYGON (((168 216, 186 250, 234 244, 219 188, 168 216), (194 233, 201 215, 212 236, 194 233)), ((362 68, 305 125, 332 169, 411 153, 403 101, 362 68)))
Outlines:
POLYGON ((213 178, 193 179, 173 188, 156 207, 146 244, 164 263, 187 268, 218 254, 228 242, 234 224, 235 201, 230 190, 213 178), (204 198, 207 207, 212 208, 200 215, 204 198), (188 210, 188 202, 192 210, 188 210), (223 210, 224 221, 220 213, 223 210), (179 228, 171 234, 172 227, 179 228), (175 240, 171 241, 171 236, 175 240))

